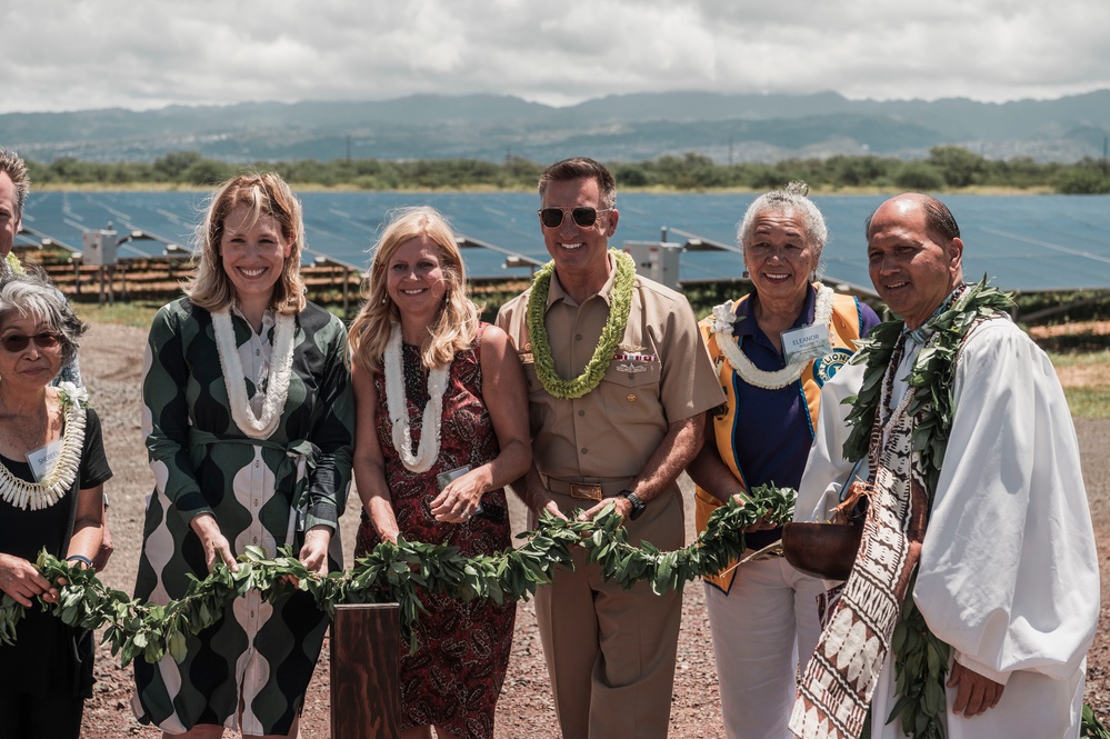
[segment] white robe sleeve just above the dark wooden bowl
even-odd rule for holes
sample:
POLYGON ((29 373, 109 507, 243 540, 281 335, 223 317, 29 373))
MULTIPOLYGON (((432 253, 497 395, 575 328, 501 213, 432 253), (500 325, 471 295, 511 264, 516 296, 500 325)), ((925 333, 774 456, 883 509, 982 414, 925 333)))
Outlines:
MULTIPOLYGON (((810 447, 806 471, 798 486, 796 521, 824 523, 831 519, 832 509, 840 502, 840 491, 852 468, 852 463, 844 459, 843 451, 851 432, 846 419, 852 407, 842 401, 859 392, 863 385, 863 370, 862 364, 844 364, 821 388, 821 408, 813 432, 813 446, 810 447)), ((867 479, 867 462, 858 475, 867 479)))

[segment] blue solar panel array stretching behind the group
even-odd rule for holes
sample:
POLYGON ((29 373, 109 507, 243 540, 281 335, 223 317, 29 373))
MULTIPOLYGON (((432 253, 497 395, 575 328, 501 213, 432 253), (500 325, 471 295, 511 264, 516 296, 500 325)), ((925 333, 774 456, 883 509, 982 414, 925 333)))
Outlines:
MULTIPOLYGON (((537 197, 523 192, 412 193, 304 192, 307 260, 327 257, 354 268, 369 262, 389 211, 428 204, 443 212, 457 232, 476 241, 537 261, 548 259, 536 216, 537 197)), ((823 261, 826 276, 870 289, 863 220, 886 196, 830 196, 814 201, 829 223, 823 261)), ((206 196, 194 192, 32 192, 23 226, 32 234, 21 242, 50 238, 79 250, 86 229, 109 223, 121 237, 142 236, 121 244, 121 258, 160 256, 167 244, 189 248, 206 196)), ((676 231, 732 244, 736 223, 752 194, 627 193, 618 200, 620 222, 613 246, 622 241, 683 242, 676 231)), ((960 222, 964 272, 969 279, 994 278, 1008 290, 1110 288, 1110 197, 1106 196, 951 196, 944 198, 960 222)), ((467 269, 476 278, 527 276, 527 268, 506 268, 504 253, 467 249, 467 269)), ((682 254, 683 281, 738 277, 738 254, 689 251, 682 254)))

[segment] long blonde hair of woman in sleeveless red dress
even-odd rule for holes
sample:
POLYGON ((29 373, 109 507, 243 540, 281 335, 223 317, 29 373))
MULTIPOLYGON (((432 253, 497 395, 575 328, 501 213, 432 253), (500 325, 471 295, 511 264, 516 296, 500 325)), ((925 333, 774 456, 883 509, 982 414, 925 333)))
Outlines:
POLYGON ((386 290, 386 269, 402 243, 427 237, 439 247, 447 292, 420 346, 420 361, 429 369, 443 367, 457 351, 469 349, 478 333, 478 307, 466 294, 467 270, 462 252, 451 224, 434 208, 399 208, 389 217, 386 230, 372 249, 370 271, 362 283, 366 302, 351 323, 347 338, 348 357, 363 369, 381 368, 393 323, 401 321, 401 313, 386 290))

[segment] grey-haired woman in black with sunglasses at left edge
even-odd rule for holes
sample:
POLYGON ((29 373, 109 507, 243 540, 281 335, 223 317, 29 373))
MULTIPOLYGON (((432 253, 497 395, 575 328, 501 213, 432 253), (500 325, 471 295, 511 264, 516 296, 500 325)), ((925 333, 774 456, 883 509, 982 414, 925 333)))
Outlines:
POLYGON ((40 550, 83 568, 100 548, 112 476, 100 419, 82 389, 49 386, 84 330, 42 276, 0 277, 0 590, 27 609, 16 642, 0 646, 6 737, 77 739, 92 697, 92 631, 34 603, 58 602, 34 566, 40 550))

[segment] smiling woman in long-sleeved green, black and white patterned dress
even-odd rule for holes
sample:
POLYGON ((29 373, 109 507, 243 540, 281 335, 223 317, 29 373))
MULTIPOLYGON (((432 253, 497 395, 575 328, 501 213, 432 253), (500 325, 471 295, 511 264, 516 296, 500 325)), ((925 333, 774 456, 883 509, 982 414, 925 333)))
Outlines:
MULTIPOLYGON (((186 298, 154 317, 142 380, 154 490, 136 597, 166 603, 217 562, 291 547, 342 568, 338 521, 354 408, 342 321, 304 299, 301 206, 277 174, 213 193, 186 298)), ((310 593, 257 590, 189 637, 179 665, 134 661, 132 708, 166 735, 297 736, 328 617, 310 593)))

